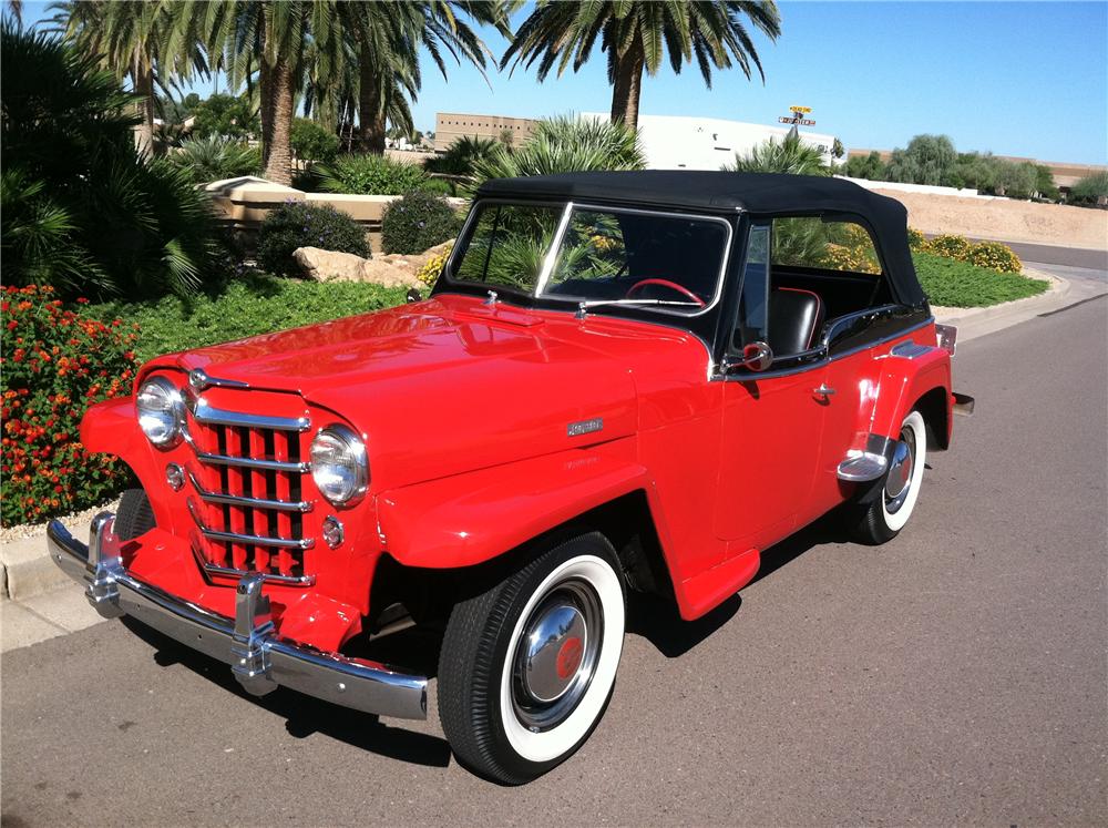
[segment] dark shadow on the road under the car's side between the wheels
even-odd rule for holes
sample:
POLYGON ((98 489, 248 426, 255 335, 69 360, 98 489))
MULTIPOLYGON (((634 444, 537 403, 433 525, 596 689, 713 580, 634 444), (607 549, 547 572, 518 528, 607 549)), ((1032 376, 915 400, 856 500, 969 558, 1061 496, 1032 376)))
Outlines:
MULTIPOLYGON (((838 512, 831 512, 762 552, 758 574, 747 586, 768 577, 810 549, 825 543, 844 543, 848 540, 841 517, 838 512)), ((685 621, 671 600, 655 595, 633 595, 628 603, 627 632, 642 635, 667 658, 677 658, 727 624, 741 606, 741 595, 735 594, 699 619, 685 621)))

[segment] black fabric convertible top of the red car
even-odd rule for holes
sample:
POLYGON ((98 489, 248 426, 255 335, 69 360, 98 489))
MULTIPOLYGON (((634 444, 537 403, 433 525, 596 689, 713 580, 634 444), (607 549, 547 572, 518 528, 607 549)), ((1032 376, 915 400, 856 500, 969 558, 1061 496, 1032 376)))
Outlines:
POLYGON ((563 173, 493 178, 481 185, 478 197, 616 202, 755 216, 852 214, 873 229, 896 297, 906 305, 926 300, 907 246, 904 205, 842 178, 699 170, 563 173))

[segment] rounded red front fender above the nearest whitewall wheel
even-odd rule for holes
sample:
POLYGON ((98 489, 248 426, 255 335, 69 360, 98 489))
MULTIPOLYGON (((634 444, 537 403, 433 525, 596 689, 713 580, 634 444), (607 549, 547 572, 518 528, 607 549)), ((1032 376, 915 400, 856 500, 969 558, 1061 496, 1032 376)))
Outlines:
POLYGON ((637 490, 653 499, 644 467, 574 449, 383 492, 378 520, 406 566, 469 566, 637 490))

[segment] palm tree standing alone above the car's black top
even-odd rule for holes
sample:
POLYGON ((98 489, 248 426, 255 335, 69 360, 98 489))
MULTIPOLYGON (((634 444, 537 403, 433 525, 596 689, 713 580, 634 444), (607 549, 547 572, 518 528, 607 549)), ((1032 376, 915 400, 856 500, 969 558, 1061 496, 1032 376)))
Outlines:
POLYGON ((576 72, 588 60, 598 37, 601 51, 608 55, 612 120, 634 129, 638 125, 643 70, 657 73, 666 52, 675 72, 695 58, 709 88, 712 67, 738 64, 749 79, 752 65, 765 80, 745 18, 770 40, 781 33, 781 18, 772 0, 540 0, 520 24, 501 68, 509 63, 530 68, 537 61, 540 81, 555 67, 558 75, 571 64, 576 72))

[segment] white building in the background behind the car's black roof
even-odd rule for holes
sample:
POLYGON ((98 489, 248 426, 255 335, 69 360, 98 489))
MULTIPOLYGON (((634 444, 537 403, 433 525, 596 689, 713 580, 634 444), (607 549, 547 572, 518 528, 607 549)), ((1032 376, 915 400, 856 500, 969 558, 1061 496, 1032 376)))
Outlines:
MULTIPOLYGON (((582 117, 608 119, 596 112, 583 113, 582 117)), ((746 155, 771 137, 780 141, 790 129, 718 117, 638 116, 638 136, 650 170, 719 170, 732 163, 736 153, 746 155)), ((831 164, 834 135, 800 132, 800 140, 817 147, 823 153, 823 162, 831 164)))

